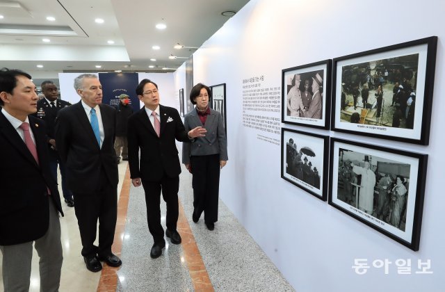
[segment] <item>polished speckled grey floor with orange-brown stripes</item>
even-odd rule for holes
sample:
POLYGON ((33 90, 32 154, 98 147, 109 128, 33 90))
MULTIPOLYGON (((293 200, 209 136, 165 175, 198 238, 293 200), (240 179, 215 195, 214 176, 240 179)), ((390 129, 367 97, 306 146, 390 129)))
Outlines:
MULTIPOLYGON (((119 172, 113 252, 123 264, 120 268, 104 265, 102 273, 86 270, 74 209, 64 204, 65 217, 60 218, 64 257, 60 291, 294 291, 223 202, 212 232, 203 218, 192 221, 193 190, 186 170, 181 173, 179 188, 178 232, 182 243, 174 245, 165 238, 163 255, 150 258, 153 239, 147 228, 143 188, 130 185, 127 162, 120 163, 119 172)), ((165 227, 165 203, 161 202, 165 227)), ((37 254, 32 269, 30 291, 39 291, 37 254)))

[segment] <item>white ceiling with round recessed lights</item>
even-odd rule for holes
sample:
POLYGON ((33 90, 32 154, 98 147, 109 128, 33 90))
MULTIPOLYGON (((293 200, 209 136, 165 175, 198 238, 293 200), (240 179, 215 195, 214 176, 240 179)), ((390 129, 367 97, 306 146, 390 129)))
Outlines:
POLYGON ((51 72, 175 70, 194 51, 174 49, 175 44, 200 47, 229 19, 221 13, 237 12, 245 3, 248 0, 0 0, 0 67, 51 72), (49 16, 56 21, 48 21, 49 16), (104 23, 97 24, 96 18, 104 23), (156 29, 159 23, 167 28, 156 29), (161 49, 152 49, 154 45, 161 49), (170 54, 183 58, 169 59, 170 54))

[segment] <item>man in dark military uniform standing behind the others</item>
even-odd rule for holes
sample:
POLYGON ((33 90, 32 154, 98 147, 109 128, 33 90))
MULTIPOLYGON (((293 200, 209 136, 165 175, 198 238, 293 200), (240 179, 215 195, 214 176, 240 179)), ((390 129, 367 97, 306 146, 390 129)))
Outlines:
POLYGON ((72 200, 71 190, 67 188, 65 178, 65 165, 60 163, 60 157, 58 156, 56 148, 56 140, 54 139, 54 127, 56 124, 57 113, 61 108, 65 108, 71 104, 65 102, 65 100, 57 99, 58 90, 53 81, 43 81, 41 87, 44 97, 37 102, 37 113, 34 115, 41 120, 44 120, 47 125, 47 145, 49 149, 49 167, 51 168, 51 174, 57 182, 57 165, 59 165, 60 176, 62 177, 63 197, 65 198, 67 206, 73 207, 74 200, 72 200))

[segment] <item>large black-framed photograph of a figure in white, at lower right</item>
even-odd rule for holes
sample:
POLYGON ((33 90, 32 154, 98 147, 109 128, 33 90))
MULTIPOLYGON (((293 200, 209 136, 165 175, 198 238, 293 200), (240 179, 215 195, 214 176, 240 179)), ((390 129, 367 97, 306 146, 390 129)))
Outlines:
POLYGON ((329 204, 419 250, 428 155, 331 138, 329 204))

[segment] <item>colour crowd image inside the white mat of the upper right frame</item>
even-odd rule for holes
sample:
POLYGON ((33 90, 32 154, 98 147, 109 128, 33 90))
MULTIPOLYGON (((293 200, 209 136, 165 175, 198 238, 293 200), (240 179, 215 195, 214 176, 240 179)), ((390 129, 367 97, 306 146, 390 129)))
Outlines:
POLYGON ((357 113, 360 124, 413 129, 414 111, 408 120, 408 106, 416 95, 418 67, 419 54, 341 67, 341 122, 351 122, 357 113))

